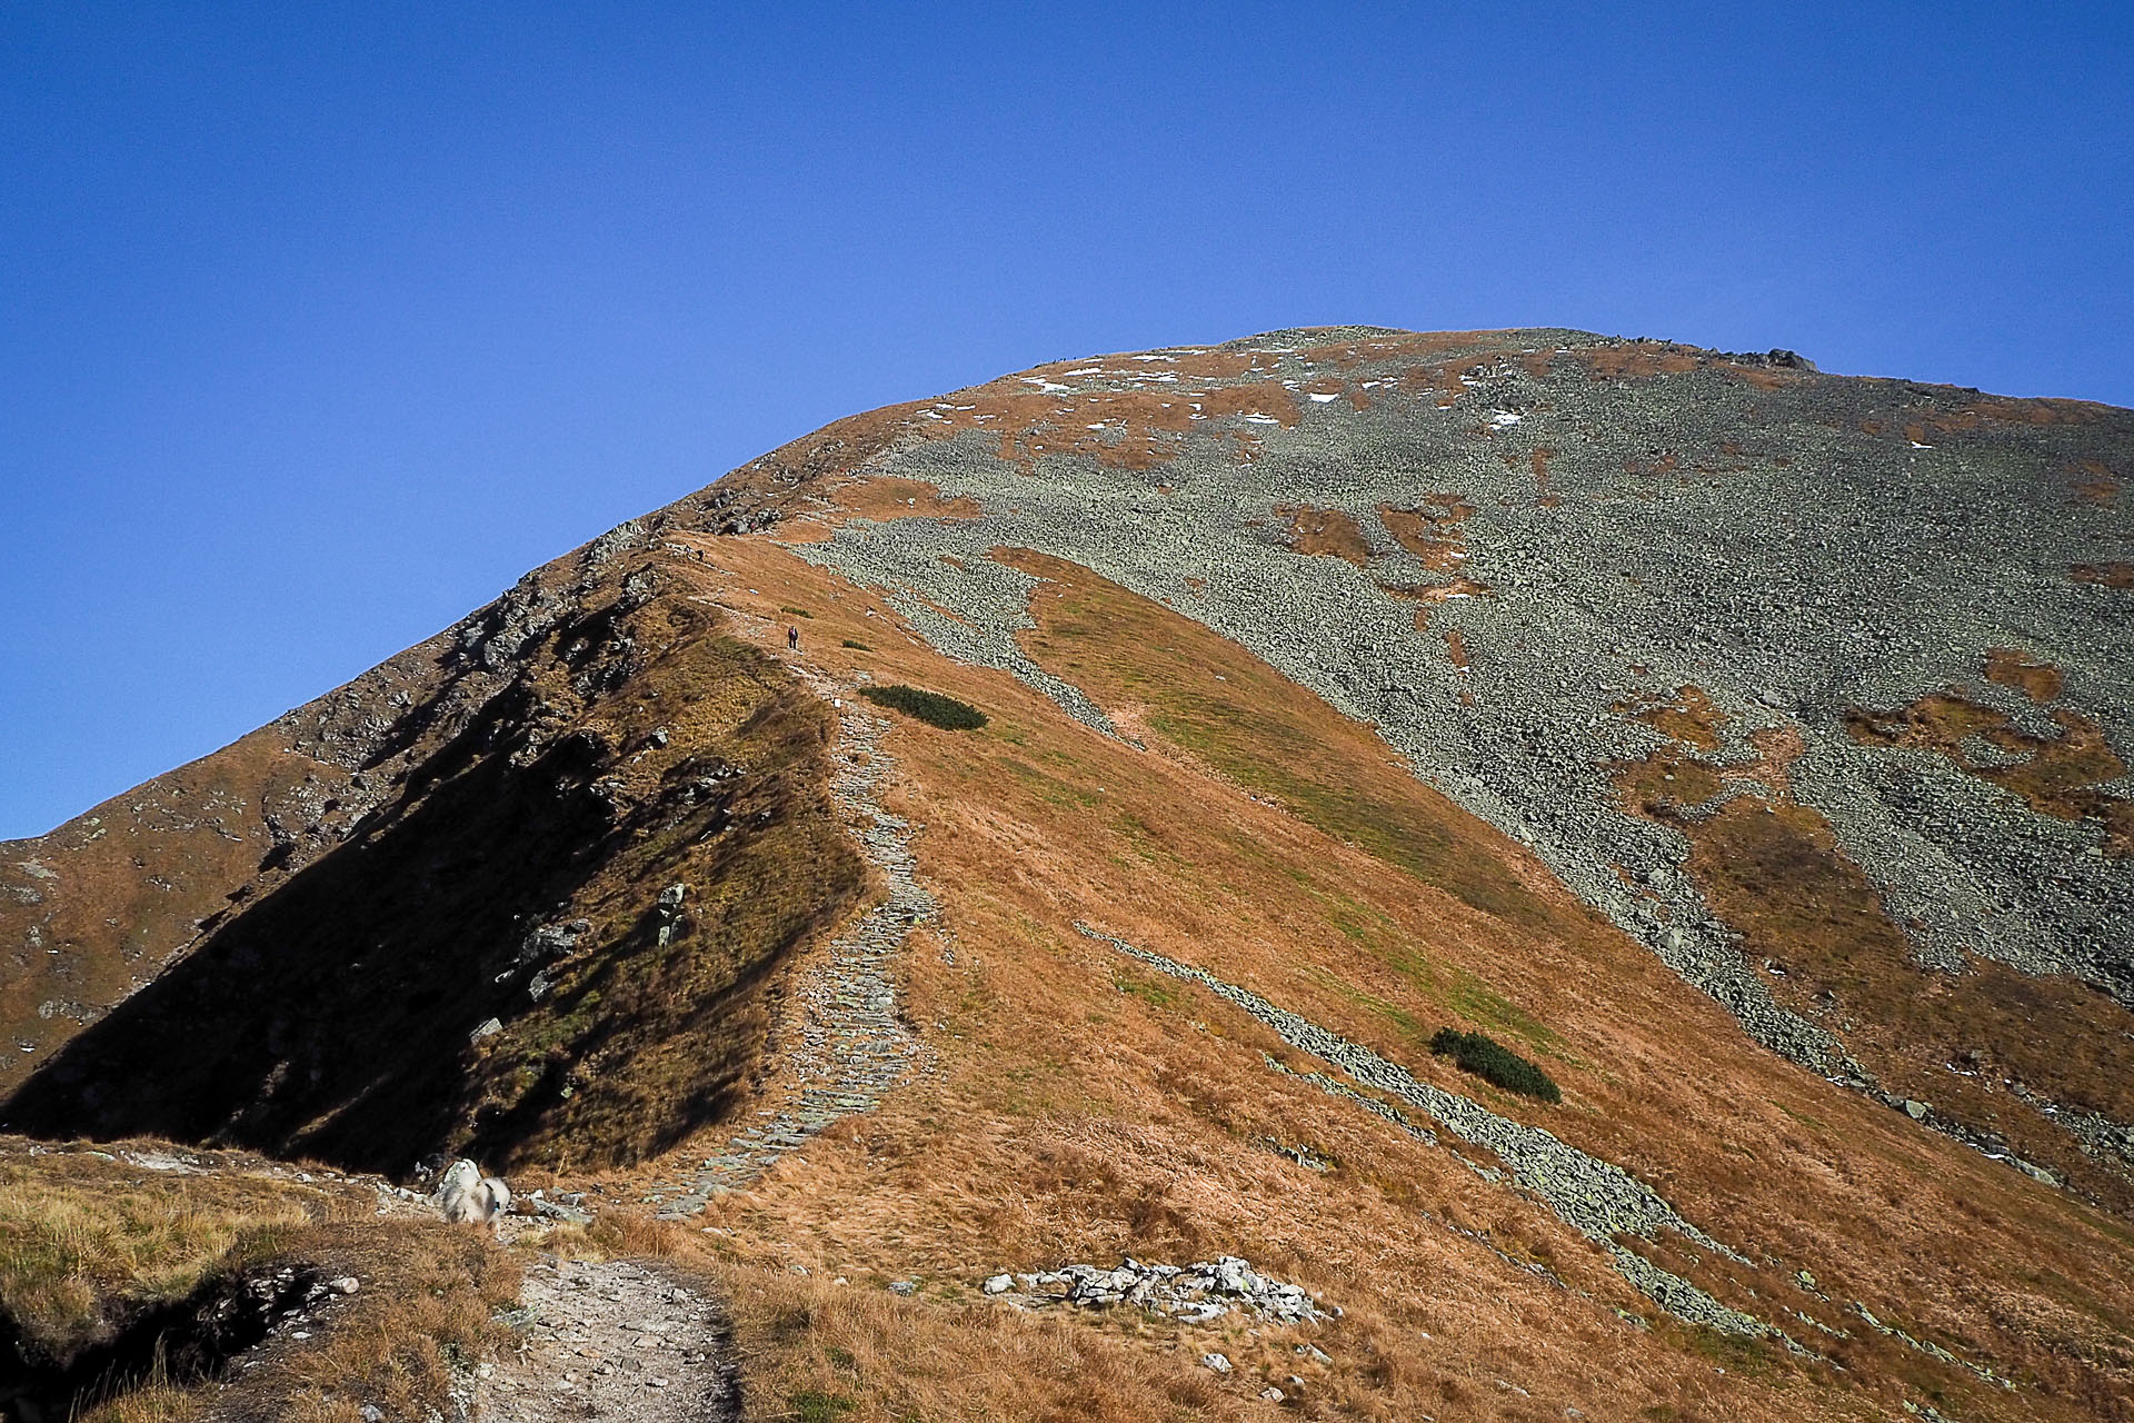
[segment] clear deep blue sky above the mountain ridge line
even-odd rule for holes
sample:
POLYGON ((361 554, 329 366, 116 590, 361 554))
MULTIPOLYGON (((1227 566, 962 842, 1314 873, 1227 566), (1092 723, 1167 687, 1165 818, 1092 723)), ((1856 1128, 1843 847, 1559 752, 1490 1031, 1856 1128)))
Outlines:
POLYGON ((0 0, 0 836, 837 416, 1291 324, 2134 405, 2134 6, 0 0))

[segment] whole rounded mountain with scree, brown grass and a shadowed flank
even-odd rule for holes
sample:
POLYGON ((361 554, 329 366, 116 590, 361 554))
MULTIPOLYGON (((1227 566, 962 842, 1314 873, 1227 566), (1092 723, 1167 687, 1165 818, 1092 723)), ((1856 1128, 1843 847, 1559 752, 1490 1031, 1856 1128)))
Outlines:
POLYGON ((1556 329, 854 416, 0 847, 0 1122, 589 1190, 764 1417, 2134 1417, 2130 469, 1556 329))

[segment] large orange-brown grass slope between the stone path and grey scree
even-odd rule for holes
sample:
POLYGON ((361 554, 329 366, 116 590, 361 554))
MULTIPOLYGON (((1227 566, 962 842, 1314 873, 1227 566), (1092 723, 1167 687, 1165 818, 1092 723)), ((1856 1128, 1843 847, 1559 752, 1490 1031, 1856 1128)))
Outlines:
MULTIPOLYGON (((723 1267, 755 1272, 773 1293, 845 1276, 849 1286, 830 1289, 879 1295, 888 1280, 918 1280, 918 1304, 877 1299, 886 1314, 869 1327, 886 1329, 883 1348, 903 1338, 907 1359, 958 1374, 939 1385, 958 1391, 943 1397, 980 1412, 999 1387, 997 1344, 962 1314, 933 1331, 918 1321, 937 1314, 905 1310, 973 1306, 975 1282, 1003 1267, 1231 1248, 1347 1310, 1315 1338, 1336 1365, 1325 1376, 1295 1370, 1310 1376, 1302 1408, 1321 1417, 1560 1417, 1564 1406, 1588 1417, 1850 1417, 1931 1397, 1921 1389, 1940 1391, 1955 1417, 2008 1414, 1970 1376, 1886 1342, 1846 1344, 1850 1372, 1829 1374, 1754 1350, 1735 1357, 1667 1327, 1624 1329, 1611 1308, 1650 1314, 1650 1304, 1554 1216, 1443 1150, 1272 1075, 1261 1052, 1310 1062, 1197 990, 1135 977, 1069 928, 1097 917, 1451 1090, 1487 1092, 1440 1073, 1417 1041, 1432 1026, 1532 1045, 1566 1090, 1564 1107, 1547 1109, 1551 1131, 1660 1184, 1748 1254, 1782 1261, 1711 1272, 1662 1250, 1669 1267, 1743 1308, 1782 1299, 1844 1325, 1790 1284, 1793 1267, 1810 1267, 1840 1299, 2051 1380, 2051 1395, 2021 1395, 2025 1414, 2096 1414, 2076 1402, 2083 1391, 2123 1387, 2125 1374, 2100 1363, 2123 1346, 2121 1301, 2134 1297, 2113 1227, 1754 1050, 1522 849, 1400 770, 1368 728, 1236 644, 1086 570, 1012 555, 1052 578, 1033 602, 1029 651, 1133 725, 1150 747, 1135 753, 1067 723, 1005 674, 947 663, 864 619, 866 593, 775 548, 736 540, 719 555, 732 567, 721 587, 817 610, 819 661, 939 687, 992 717, 980 734, 898 728, 890 740, 901 770, 892 804, 924 826, 920 866, 952 934, 920 934, 905 962, 907 1013, 941 1054, 939 1075, 715 1201, 704 1218, 715 1233, 694 1244, 723 1267), (828 646, 845 634, 875 651, 828 646), (1468 862, 1460 877, 1432 868, 1432 821, 1468 862), (1481 875, 1470 890, 1504 875, 1532 909, 1462 902, 1453 885, 1468 875, 1481 875), (1312 1144, 1338 1167, 1304 1171, 1263 1137, 1312 1144), (1950 1233, 1950 1220, 1974 1229, 1950 1233), (1571 1291, 1458 1231, 1547 1261, 1571 1291)), ((1517 1099, 1487 1101, 1507 1116, 1528 1112, 1517 1099)), ((1297 1363, 1280 1340, 1255 1353, 1268 1336, 1251 1340, 1242 1327, 1231 1340, 1129 1325, 1063 1321, 1163 1368, 1180 1355, 1191 1368, 1208 1346, 1231 1353, 1231 1342, 1255 1378, 1297 1363)), ((811 1331, 755 1338, 766 1363, 794 1370, 775 1374, 787 1380, 777 1387, 828 1389, 841 1376, 819 1372, 837 1361, 807 1342, 811 1331)), ((854 1417, 898 1417, 888 1385, 845 1391, 862 1400, 854 1417)), ((1169 1404, 1154 1391, 1135 1406, 1161 1417, 1169 1404)))

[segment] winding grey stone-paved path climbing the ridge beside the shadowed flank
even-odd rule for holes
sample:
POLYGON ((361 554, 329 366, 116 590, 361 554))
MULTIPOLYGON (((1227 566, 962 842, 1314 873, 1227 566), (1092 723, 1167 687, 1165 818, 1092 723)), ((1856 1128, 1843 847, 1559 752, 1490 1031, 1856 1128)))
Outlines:
POLYGON ((933 894, 913 877, 911 826, 881 809, 877 789, 894 770, 881 740, 890 723, 824 674, 794 670, 826 702, 837 704, 839 749, 830 798, 879 870, 888 896, 862 913, 822 962, 805 969, 779 1028, 787 1065, 783 1101, 764 1107, 753 1126, 702 1161, 689 1180, 655 1188, 659 1216, 672 1220, 704 1210, 721 1190, 745 1186, 779 1156, 805 1146, 841 1116, 871 1112, 881 1094, 922 1060, 918 1039, 896 1018, 890 969, 913 924, 935 917, 933 894), (679 1193, 679 1195, 670 1195, 679 1193))

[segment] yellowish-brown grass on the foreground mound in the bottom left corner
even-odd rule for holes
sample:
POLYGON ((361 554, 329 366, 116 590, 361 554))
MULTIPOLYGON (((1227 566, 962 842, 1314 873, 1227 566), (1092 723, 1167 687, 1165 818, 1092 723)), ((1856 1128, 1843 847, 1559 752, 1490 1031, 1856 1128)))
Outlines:
POLYGON ((423 1417, 450 1372, 501 1338, 516 1265, 482 1231, 380 1218, 367 1184, 314 1178, 230 1152, 205 1171, 132 1165, 122 1150, 30 1148, 0 1139, 0 1310, 43 1357, 64 1361, 143 1308, 188 1299, 241 1272, 299 1265, 361 1289, 314 1325, 273 1338, 228 1380, 171 1382, 105 1400, 85 1423, 356 1423, 363 1402, 423 1417))

